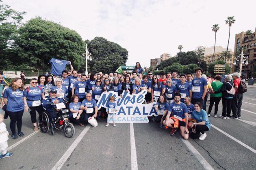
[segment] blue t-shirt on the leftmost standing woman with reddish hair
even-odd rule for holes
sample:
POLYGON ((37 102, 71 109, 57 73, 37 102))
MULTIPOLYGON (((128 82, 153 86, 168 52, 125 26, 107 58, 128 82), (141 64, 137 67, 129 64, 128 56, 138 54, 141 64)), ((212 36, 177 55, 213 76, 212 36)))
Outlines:
POLYGON ((7 98, 7 111, 10 112, 18 112, 24 110, 24 102, 23 102, 23 91, 20 89, 16 89, 13 91, 11 87, 8 87, 4 90, 4 98, 7 98))

